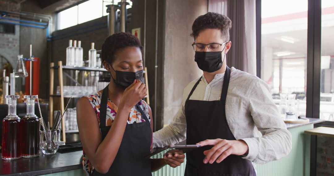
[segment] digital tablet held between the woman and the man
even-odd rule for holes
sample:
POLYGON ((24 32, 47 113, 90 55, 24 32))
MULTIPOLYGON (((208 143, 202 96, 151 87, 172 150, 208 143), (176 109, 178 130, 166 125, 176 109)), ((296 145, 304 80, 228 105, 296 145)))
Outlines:
POLYGON ((163 148, 154 148, 153 152, 147 155, 145 158, 163 158, 164 154, 167 153, 169 150, 182 150, 183 153, 189 152, 191 150, 197 149, 201 147, 200 145, 169 145, 163 148))

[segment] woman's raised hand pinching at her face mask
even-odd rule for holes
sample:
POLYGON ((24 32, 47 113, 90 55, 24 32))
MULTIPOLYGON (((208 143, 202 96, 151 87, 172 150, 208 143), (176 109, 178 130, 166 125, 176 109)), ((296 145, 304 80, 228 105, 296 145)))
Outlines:
POLYGON ((120 107, 131 109, 146 95, 147 88, 145 84, 139 80, 134 80, 133 83, 124 90, 120 107))

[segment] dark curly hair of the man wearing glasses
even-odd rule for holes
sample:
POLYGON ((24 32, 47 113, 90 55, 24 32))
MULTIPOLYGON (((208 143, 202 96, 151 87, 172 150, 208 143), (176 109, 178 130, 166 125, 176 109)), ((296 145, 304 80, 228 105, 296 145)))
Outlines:
POLYGON ((232 27, 232 21, 225 15, 219 13, 208 12, 196 18, 192 24, 191 37, 196 37, 204 29, 220 29, 221 37, 225 41, 229 41, 229 30, 232 27))

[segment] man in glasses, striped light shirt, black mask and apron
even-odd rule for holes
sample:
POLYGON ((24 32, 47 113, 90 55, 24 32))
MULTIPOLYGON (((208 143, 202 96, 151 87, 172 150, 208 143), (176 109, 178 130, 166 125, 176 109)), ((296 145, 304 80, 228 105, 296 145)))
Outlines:
POLYGON ((202 146, 187 153, 185 175, 253 176, 252 162, 278 160, 292 147, 267 84, 226 66, 230 28, 231 20, 218 13, 194 21, 192 46, 203 76, 186 86, 173 122, 153 134, 154 147, 184 139, 202 146))

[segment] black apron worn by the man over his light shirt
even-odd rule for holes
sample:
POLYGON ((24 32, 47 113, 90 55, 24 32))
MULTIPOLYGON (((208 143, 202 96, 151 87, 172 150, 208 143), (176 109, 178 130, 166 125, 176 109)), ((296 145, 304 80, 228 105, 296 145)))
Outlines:
MULTIPOLYGON (((225 101, 231 69, 226 66, 220 100, 201 101, 189 100, 201 78, 192 88, 185 102, 187 121, 187 144, 196 144, 206 139, 236 140, 226 120, 225 101)), ((230 155, 219 164, 204 164, 205 150, 212 146, 203 146, 187 152, 185 176, 256 176, 252 162, 241 156, 230 155)))

